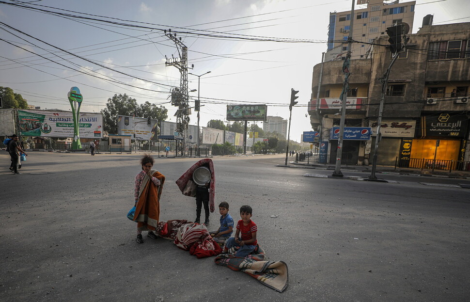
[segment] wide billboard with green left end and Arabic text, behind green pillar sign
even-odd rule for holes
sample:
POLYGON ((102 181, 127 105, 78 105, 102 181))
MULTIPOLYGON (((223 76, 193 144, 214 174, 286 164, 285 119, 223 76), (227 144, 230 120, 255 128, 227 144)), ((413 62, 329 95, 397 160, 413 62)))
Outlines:
MULTIPOLYGON (((74 118, 68 111, 18 110, 19 133, 23 136, 74 137, 74 118)), ((101 113, 78 114, 81 138, 103 138, 101 113)))

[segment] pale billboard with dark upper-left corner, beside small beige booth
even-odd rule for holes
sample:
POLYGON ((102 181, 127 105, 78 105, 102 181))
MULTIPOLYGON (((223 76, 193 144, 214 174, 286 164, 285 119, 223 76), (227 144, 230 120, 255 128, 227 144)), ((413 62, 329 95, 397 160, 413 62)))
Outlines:
POLYGON ((157 139, 157 120, 148 121, 143 117, 132 117, 125 115, 118 115, 118 134, 131 135, 140 141, 156 140, 157 139))

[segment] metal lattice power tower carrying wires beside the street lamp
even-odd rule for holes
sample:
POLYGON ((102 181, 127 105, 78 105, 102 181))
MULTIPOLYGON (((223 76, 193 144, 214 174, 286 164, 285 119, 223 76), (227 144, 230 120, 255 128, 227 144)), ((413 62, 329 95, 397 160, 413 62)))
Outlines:
POLYGON ((165 30, 165 35, 171 39, 176 45, 178 50, 179 58, 167 58, 165 66, 175 66, 180 71, 180 89, 174 88, 172 91, 172 105, 178 107, 176 110, 176 129, 183 136, 183 142, 180 146, 179 153, 181 156, 188 154, 188 143, 189 143, 189 95, 188 95, 188 48, 181 42, 181 38, 176 37, 176 33, 172 33, 171 30, 168 32, 165 30))

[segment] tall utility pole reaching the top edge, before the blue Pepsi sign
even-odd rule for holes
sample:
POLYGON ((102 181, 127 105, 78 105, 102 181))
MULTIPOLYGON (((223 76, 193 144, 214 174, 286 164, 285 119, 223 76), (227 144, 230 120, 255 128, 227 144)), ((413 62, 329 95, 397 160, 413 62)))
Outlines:
POLYGON ((343 91, 341 92, 341 121, 340 121, 340 133, 338 137, 338 149, 336 150, 336 165, 333 172, 333 176, 343 177, 341 172, 341 157, 343 155, 343 136, 345 133, 345 117, 346 117, 346 99, 347 91, 349 90, 349 61, 351 60, 351 47, 352 47, 352 32, 353 32, 353 22, 354 22, 354 1, 352 0, 350 22, 349 22, 349 35, 347 37, 347 54, 345 62, 343 63, 343 72, 345 74, 345 82, 343 84, 343 91))

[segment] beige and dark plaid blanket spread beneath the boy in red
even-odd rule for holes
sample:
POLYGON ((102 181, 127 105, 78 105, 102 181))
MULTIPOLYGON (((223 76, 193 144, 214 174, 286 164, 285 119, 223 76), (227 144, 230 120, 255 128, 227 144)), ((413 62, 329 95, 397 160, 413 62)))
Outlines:
POLYGON ((255 278, 262 284, 279 292, 287 287, 287 264, 283 261, 264 261, 263 249, 258 249, 258 254, 250 254, 247 257, 235 257, 233 254, 220 254, 214 262, 217 265, 226 266, 231 270, 240 270, 255 278))

